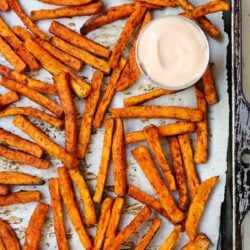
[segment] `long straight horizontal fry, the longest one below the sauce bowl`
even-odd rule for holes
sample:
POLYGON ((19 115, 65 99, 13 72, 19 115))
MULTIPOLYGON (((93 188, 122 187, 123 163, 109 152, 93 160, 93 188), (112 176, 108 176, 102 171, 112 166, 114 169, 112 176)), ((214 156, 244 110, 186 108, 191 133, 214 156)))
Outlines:
POLYGON ((202 111, 178 106, 131 106, 112 109, 113 118, 169 118, 199 122, 202 111))

